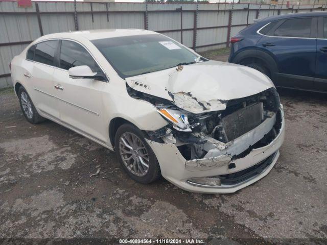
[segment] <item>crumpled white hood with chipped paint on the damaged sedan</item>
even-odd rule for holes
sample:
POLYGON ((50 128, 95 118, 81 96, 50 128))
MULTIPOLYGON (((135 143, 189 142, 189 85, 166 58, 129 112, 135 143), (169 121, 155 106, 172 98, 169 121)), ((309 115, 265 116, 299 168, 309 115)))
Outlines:
POLYGON ((274 87, 261 72, 242 65, 206 61, 126 78, 140 92, 171 101, 177 107, 203 113, 226 109, 229 100, 274 87))

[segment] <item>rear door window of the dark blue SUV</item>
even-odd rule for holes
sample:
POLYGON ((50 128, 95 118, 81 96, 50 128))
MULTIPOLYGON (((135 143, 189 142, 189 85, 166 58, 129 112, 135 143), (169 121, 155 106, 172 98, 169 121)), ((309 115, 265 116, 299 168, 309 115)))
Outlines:
POLYGON ((288 19, 279 26, 274 36, 278 37, 310 37, 312 18, 288 19))

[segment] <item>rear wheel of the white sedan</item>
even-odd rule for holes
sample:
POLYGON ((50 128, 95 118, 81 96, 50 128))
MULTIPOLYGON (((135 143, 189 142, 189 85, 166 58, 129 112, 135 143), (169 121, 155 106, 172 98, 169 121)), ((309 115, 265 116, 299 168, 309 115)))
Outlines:
POLYGON ((20 86, 20 88, 18 89, 18 100, 22 113, 24 114, 26 120, 31 122, 31 124, 39 124, 40 122, 45 120, 44 117, 39 115, 39 113, 35 109, 30 95, 22 86, 20 86))

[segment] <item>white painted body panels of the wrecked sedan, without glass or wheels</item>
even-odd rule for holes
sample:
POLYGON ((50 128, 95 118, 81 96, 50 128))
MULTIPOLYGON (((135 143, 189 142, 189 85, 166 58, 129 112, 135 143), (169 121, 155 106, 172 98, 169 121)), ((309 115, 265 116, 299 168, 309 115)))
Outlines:
MULTIPOLYGON (((168 122, 157 112, 157 108, 144 100, 135 100, 126 89, 133 89, 171 101, 177 107, 198 114, 220 111, 232 99, 243 98, 269 88, 271 80, 252 68, 218 61, 185 65, 182 70, 169 68, 145 75, 122 79, 90 40, 132 35, 157 34, 145 30, 95 30, 45 35, 31 43, 11 65, 12 82, 21 84, 28 91, 38 113, 61 124, 106 148, 113 150, 109 137, 109 125, 113 118, 124 118, 140 130, 154 131, 168 122), (71 40, 81 44, 101 67, 108 82, 94 79, 69 78, 68 70, 26 59, 29 47, 44 40, 71 40), (135 83, 136 82, 136 83, 135 83), (142 83, 147 85, 139 86, 142 83), (55 89, 62 87, 63 89, 55 89)), ((194 52, 194 51, 192 51, 194 52)), ((196 54, 194 52, 194 54, 196 54)), ((268 145, 253 149, 236 160, 224 154, 212 153, 210 157, 185 160, 177 146, 179 140, 158 143, 147 139, 155 153, 161 174, 178 187, 194 192, 230 193, 243 188, 268 174, 275 164, 278 149, 284 141, 284 116, 278 135, 268 145), (208 187, 194 185, 188 180, 194 177, 210 177, 236 173, 261 162, 268 154, 275 153, 272 163, 259 176, 248 179, 237 186, 208 187), (216 154, 216 155, 215 155, 216 154), (228 164, 236 167, 229 169, 228 164)), ((259 126, 258 126, 259 127, 259 126)), ((253 131, 255 134, 255 130, 253 131)), ((251 145, 250 139, 242 135, 240 142, 251 145)), ((217 140, 216 140, 217 141, 217 140)), ((215 144, 217 142, 210 142, 215 144)), ((221 143, 221 142, 220 142, 221 143)), ((207 143, 208 144, 208 143, 207 143)), ((228 144, 220 144, 222 149, 228 144)), ((209 146, 208 146, 209 147, 209 146)), ((220 149, 219 149, 220 150, 220 149)))

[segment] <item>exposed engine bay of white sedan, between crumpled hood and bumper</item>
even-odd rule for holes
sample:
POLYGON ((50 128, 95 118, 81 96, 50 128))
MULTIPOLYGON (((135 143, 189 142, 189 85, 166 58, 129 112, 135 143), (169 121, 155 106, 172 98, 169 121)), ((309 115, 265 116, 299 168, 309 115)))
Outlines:
MULTIPOLYGON (((281 126, 280 101, 275 88, 224 101, 225 110, 195 114, 178 108, 172 101, 126 86, 131 97, 151 103, 169 122, 164 128, 147 131, 150 139, 176 144, 186 160, 221 155, 242 158, 252 149, 269 144, 281 126)), ((205 111, 205 105, 203 108, 205 111)))

